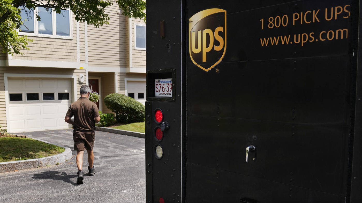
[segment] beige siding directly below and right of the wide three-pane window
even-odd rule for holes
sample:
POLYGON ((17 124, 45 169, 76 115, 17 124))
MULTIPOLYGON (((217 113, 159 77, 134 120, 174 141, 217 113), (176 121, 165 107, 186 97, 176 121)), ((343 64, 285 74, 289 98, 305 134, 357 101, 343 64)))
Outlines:
POLYGON ((59 39, 41 36, 28 36, 33 39, 28 44, 30 50, 21 49, 24 55, 14 55, 12 59, 77 62, 76 21, 72 15, 73 39, 59 39))

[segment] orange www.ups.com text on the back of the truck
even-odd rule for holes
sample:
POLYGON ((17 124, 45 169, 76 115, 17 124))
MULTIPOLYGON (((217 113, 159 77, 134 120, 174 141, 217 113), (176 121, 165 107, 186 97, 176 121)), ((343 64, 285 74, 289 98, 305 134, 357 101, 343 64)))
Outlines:
POLYGON ((284 36, 274 36, 268 38, 260 38, 261 46, 274 46, 274 45, 284 45, 284 44, 301 44, 302 47, 305 43, 308 42, 318 42, 326 40, 338 40, 338 39, 347 39, 348 38, 348 29, 338 29, 338 30, 329 30, 321 31, 319 34, 316 33, 303 33, 295 35, 284 35, 284 36))

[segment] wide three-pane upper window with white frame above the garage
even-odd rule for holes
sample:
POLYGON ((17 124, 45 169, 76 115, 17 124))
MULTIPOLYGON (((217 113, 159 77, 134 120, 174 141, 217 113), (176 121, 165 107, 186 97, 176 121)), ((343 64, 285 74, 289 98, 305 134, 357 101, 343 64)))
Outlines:
POLYGON ((52 9, 37 7, 34 11, 20 7, 21 20, 24 24, 20 26, 20 35, 46 36, 55 38, 71 39, 71 12, 62 10, 61 13, 55 13, 52 9), (35 18, 38 13, 40 21, 35 18), (34 20, 35 19, 35 20, 34 20))

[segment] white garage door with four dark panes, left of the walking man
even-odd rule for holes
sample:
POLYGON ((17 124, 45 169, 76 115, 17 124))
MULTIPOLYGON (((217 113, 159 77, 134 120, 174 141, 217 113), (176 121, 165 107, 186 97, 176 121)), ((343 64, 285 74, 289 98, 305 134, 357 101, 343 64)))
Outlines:
POLYGON ((9 132, 69 128, 70 79, 8 79, 9 132))

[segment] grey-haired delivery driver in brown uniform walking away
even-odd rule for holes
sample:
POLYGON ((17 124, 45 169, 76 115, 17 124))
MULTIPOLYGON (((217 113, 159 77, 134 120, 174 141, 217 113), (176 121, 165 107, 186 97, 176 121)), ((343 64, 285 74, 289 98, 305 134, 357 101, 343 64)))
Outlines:
POLYGON ((89 176, 94 176, 96 170, 93 166, 94 135, 96 134, 95 124, 101 120, 96 103, 89 101, 90 88, 87 85, 80 87, 80 98, 72 103, 68 109, 64 121, 73 124, 74 150, 77 151, 78 178, 77 184, 83 183, 83 154, 88 152, 89 176), (74 122, 71 117, 74 116, 74 122))

